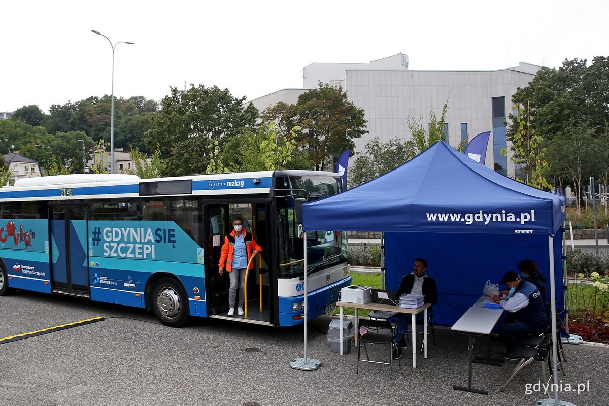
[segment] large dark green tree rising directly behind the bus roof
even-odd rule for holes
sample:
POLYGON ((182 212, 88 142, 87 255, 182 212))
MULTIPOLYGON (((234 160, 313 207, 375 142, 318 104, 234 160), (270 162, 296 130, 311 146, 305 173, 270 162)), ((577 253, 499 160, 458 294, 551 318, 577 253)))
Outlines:
POLYGON ((192 85, 186 92, 171 88, 144 136, 149 147, 161 145, 160 157, 167 163, 164 175, 205 172, 213 141, 223 149, 233 136, 253 130, 258 110, 251 104, 244 108, 244 101, 217 86, 192 85))

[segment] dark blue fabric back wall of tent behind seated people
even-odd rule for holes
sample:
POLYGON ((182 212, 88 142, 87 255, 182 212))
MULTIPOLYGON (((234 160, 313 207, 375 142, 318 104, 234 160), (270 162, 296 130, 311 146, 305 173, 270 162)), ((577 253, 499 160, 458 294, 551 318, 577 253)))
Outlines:
MULTIPOLYGON (((563 306, 561 234, 554 237, 557 307, 563 306)), ((543 234, 385 233, 387 289, 398 289, 417 257, 428 261, 438 285, 434 322, 452 326, 482 295, 487 280, 499 284, 504 273, 529 258, 546 277, 550 294, 548 237, 543 234)), ((499 289, 505 289, 499 286, 499 289)))

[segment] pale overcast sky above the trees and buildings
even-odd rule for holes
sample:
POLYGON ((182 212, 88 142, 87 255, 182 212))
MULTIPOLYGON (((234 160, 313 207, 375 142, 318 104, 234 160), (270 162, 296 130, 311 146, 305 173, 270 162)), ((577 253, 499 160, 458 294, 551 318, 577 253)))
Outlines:
POLYGON ((609 55, 609 1, 2 2, 0 111, 111 93, 160 100, 169 87, 256 99, 302 88, 314 62, 403 52, 410 69, 491 70, 609 55))

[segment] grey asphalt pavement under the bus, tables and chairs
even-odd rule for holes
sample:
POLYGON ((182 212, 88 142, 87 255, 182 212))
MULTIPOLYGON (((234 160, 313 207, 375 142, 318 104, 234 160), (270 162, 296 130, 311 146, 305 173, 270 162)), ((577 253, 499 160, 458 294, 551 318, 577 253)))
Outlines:
MULTIPOLYGON (((468 338, 436 329, 429 358, 411 366, 410 352, 394 365, 362 363, 357 351, 339 355, 327 339, 331 316, 309 323, 308 356, 315 371, 290 368, 303 357, 303 327, 273 329, 224 320, 194 319, 173 329, 150 313, 37 293, 0 297, 0 338, 91 317, 104 317, 51 334, 0 343, 0 405, 535 405, 543 394, 539 362, 500 389, 515 362, 473 367, 473 386, 488 396, 452 389, 468 383, 468 338)), ((1 342, 1 341, 0 341, 1 342)), ((491 340, 492 355, 504 351, 491 340)), ((374 346, 373 346, 374 347, 374 346)), ((378 346, 376 346, 378 347, 378 346)), ((477 354, 482 342, 476 341, 477 354)), ((387 348, 369 348, 386 359, 387 348)), ((561 399, 606 405, 609 346, 567 345, 561 399), (583 388, 579 394, 566 391, 583 388)))

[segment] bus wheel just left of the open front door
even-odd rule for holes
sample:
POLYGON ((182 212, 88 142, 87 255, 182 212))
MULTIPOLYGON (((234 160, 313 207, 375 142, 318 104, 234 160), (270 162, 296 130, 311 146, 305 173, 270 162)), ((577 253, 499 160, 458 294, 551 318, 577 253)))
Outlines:
POLYGON ((161 278, 152 288, 152 309, 166 326, 181 327, 188 321, 188 298, 172 278, 161 278))

